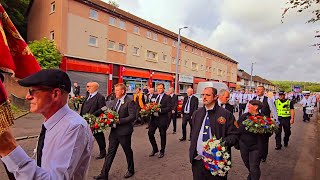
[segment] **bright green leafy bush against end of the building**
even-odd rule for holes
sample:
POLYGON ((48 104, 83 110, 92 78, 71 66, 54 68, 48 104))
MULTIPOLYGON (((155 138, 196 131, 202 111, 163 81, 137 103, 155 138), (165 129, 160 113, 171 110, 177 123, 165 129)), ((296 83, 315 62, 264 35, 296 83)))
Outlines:
POLYGON ((59 53, 54 41, 47 38, 42 38, 39 41, 32 41, 29 44, 29 48, 36 57, 41 68, 59 68, 62 56, 59 53))

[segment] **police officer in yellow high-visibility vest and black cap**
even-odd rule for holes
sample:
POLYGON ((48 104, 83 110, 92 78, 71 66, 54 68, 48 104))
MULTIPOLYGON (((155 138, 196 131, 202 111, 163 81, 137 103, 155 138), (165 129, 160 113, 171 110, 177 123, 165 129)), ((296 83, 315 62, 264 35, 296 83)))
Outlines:
POLYGON ((283 91, 279 92, 279 99, 275 101, 278 121, 279 121, 279 130, 276 132, 276 150, 280 150, 282 147, 281 144, 281 133, 282 128, 284 130, 284 147, 288 146, 289 137, 291 135, 290 126, 294 123, 294 107, 293 101, 285 98, 285 93, 283 91))

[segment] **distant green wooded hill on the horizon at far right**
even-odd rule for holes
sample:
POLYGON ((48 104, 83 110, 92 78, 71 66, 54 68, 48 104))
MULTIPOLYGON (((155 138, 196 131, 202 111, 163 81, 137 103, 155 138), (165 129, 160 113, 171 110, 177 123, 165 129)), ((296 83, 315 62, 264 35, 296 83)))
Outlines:
POLYGON ((313 82, 296 82, 296 81, 270 81, 272 84, 278 86, 280 90, 292 91, 294 86, 300 86, 301 91, 320 92, 320 83, 313 82))

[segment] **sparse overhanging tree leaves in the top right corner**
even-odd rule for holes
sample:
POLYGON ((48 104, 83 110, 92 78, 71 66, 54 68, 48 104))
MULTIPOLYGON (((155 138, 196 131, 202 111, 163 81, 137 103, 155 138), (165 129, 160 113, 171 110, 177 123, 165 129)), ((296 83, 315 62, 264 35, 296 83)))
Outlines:
MULTIPOLYGON (((284 16, 291 9, 297 10, 299 13, 308 9, 314 9, 311 12, 312 17, 306 23, 316 23, 320 20, 320 0, 287 0, 287 4, 289 7, 284 9, 281 22, 283 22, 284 16)), ((315 38, 320 38, 320 31, 316 30, 315 33, 315 38)), ((312 46, 315 46, 320 50, 320 42, 315 43, 312 46)))

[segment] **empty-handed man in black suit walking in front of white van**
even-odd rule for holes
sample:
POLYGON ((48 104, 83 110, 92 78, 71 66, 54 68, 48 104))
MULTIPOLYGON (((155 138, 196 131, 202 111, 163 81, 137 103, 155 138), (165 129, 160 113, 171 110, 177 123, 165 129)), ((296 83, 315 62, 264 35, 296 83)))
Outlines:
POLYGON ((182 138, 180 141, 185 141, 187 139, 187 123, 190 125, 190 139, 192 133, 192 123, 191 118, 193 112, 198 109, 199 100, 197 97, 193 96, 193 89, 187 89, 187 96, 183 99, 182 104, 182 138))

